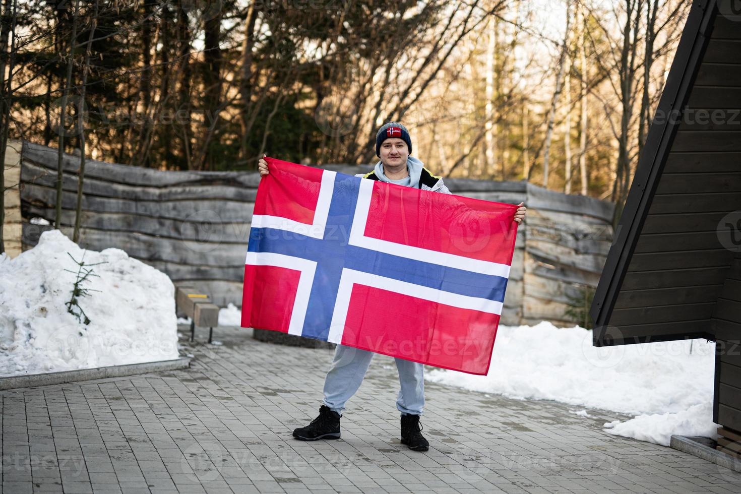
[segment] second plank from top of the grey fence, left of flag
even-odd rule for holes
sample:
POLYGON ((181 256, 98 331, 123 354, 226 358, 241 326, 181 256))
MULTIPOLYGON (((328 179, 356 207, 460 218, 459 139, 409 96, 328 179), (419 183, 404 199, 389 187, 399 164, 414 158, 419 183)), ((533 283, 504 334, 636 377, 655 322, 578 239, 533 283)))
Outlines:
MULTIPOLYGON (((30 162, 26 162, 23 165, 22 180, 24 183, 43 185, 56 189, 56 173, 50 173, 50 170, 30 162)), ((104 178, 85 176, 82 184, 82 192, 86 196, 93 195, 129 199, 132 201, 200 201, 208 198, 243 202, 255 201, 257 194, 256 188, 244 187, 236 183, 222 184, 220 182, 216 178, 210 178, 203 179, 196 184, 175 184, 163 187, 159 184, 149 184, 147 186, 122 184, 120 182, 107 181, 104 178)), ((76 195, 77 176, 65 175, 62 181, 62 189, 72 195, 76 195)))

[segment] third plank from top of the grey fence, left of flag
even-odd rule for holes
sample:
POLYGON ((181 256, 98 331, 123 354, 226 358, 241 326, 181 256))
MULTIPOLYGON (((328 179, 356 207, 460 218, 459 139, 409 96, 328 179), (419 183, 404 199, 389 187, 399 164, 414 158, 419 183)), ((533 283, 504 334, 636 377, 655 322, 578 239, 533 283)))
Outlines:
MULTIPOLYGON (((39 207, 53 207, 56 203, 56 190, 40 187, 35 184, 24 184, 21 199, 39 207)), ((64 194, 62 207, 75 210, 76 196, 64 194)), ((252 219, 253 204, 241 201, 221 199, 203 199, 199 201, 132 201, 128 199, 84 196, 82 208, 99 213, 131 213, 153 218, 170 218, 188 220, 207 216, 209 221, 228 223, 230 221, 247 222, 252 219)))

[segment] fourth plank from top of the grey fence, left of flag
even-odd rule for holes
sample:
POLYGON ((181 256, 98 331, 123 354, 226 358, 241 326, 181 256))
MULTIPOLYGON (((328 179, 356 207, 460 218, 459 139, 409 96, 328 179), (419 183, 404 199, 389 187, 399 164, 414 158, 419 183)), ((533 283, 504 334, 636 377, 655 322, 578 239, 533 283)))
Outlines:
MULTIPOLYGON (((26 208, 28 216, 39 216, 51 220, 55 211, 51 207, 35 207, 30 205, 26 208)), ((251 215, 250 215, 251 216, 251 215)), ((243 242, 247 244, 250 237, 250 223, 245 221, 230 221, 222 223, 213 221, 219 216, 204 210, 195 214, 187 220, 171 218, 154 218, 152 216, 141 216, 130 213, 99 213, 96 211, 83 211, 80 222, 82 227, 94 228, 96 230, 113 230, 120 232, 139 232, 147 235, 180 238, 182 240, 196 241, 225 241, 243 242)), ((75 221, 73 210, 62 210, 62 224, 71 225, 75 221)))

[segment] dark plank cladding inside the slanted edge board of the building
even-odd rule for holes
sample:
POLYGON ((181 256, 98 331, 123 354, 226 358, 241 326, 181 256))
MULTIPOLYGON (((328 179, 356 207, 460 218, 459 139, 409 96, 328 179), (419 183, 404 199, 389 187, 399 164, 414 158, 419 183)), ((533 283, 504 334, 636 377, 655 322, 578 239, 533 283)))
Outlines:
POLYGON ((741 204, 740 25, 716 16, 682 115, 657 115, 680 123, 610 318, 628 341, 712 337, 734 257, 720 221, 741 204))

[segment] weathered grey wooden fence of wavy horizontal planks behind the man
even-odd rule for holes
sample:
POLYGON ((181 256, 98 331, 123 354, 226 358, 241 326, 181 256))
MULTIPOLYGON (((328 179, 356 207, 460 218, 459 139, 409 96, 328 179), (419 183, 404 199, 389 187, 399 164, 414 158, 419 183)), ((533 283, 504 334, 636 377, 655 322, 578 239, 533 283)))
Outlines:
MULTIPOLYGON (((22 247, 28 249, 53 221, 57 150, 22 143, 22 247), (44 221, 41 221, 44 222, 44 221)), ((369 167, 328 165, 342 173, 369 167)), ((72 236, 79 157, 64 156, 62 231, 72 236)), ((519 227, 503 324, 548 320, 571 325, 566 311, 597 286, 611 241, 613 206, 585 196, 545 190, 525 181, 451 178, 461 196, 518 204, 528 216, 519 227)), ((247 172, 160 171, 87 161, 79 244, 118 247, 167 273, 176 283, 197 282, 220 306, 242 304, 247 238, 259 175, 247 172)))

